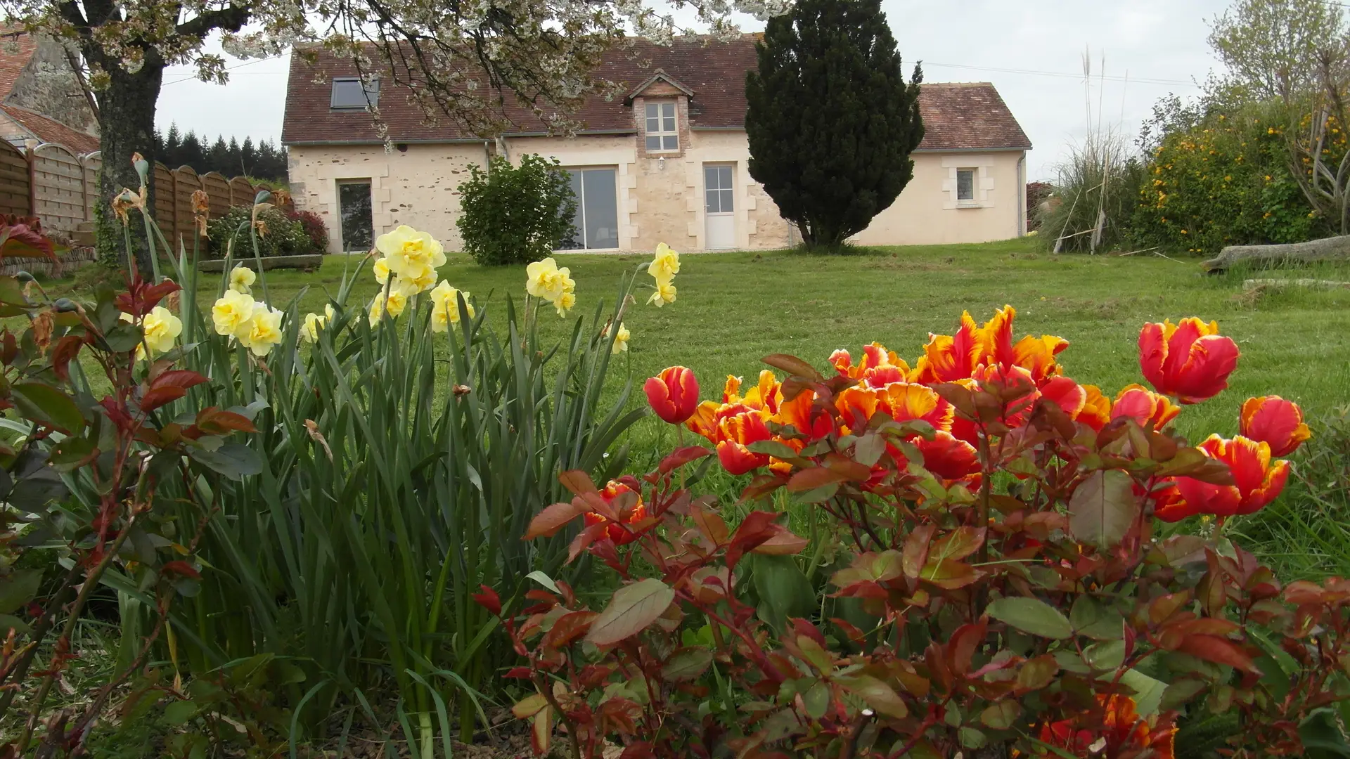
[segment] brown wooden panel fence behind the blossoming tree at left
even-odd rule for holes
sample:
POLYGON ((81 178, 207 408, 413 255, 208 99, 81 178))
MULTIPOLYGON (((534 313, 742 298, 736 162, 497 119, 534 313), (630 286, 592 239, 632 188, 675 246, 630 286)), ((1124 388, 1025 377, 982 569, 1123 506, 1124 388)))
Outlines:
MULTIPOLYGON (((30 140, 20 150, 0 139, 0 213, 36 216, 50 231, 88 231, 94 207, 111 203, 99 196, 99 153, 80 155, 63 145, 30 140)), ((211 216, 224 216, 232 205, 252 205, 258 194, 248 180, 211 172, 197 176, 189 166, 169 169, 155 163, 153 215, 165 238, 193 234, 192 193, 207 190, 211 216)))

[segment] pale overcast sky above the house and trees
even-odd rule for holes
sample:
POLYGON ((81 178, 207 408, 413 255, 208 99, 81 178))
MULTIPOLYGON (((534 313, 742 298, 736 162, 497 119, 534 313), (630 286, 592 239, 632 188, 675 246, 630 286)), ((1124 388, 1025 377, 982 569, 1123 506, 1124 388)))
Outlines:
MULTIPOLYGON (((1094 119, 1133 135, 1168 93, 1196 95, 1218 66, 1204 39, 1226 0, 883 0, 906 74, 923 62, 926 81, 991 81, 1031 138, 1029 178, 1053 180, 1056 165, 1087 131, 1083 54, 1091 51, 1094 119), (1104 58, 1106 81, 1100 81, 1104 58)), ((753 20, 747 31, 761 28, 753 20)), ((288 61, 231 61, 227 85, 165 74, 157 123, 243 140, 277 139, 288 61)))

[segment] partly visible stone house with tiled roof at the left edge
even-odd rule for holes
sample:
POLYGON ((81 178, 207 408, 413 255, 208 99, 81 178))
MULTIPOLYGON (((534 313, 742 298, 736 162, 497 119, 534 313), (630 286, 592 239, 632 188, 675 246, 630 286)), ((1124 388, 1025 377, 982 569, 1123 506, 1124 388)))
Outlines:
POLYGON ((59 42, 0 30, 0 139, 99 150, 99 119, 59 42))

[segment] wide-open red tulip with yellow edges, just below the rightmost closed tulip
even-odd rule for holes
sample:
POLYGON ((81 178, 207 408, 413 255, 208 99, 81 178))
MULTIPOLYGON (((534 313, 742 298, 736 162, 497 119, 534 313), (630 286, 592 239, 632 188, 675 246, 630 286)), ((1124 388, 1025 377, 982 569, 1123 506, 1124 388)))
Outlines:
POLYGON ((1211 435, 1197 447, 1210 458, 1228 465, 1233 485, 1212 485, 1191 477, 1177 477, 1177 493, 1185 500, 1185 508, 1176 509, 1176 513, 1184 512, 1183 516, 1256 513, 1276 500, 1289 479, 1289 462, 1270 461, 1268 443, 1241 435, 1231 440, 1211 435))

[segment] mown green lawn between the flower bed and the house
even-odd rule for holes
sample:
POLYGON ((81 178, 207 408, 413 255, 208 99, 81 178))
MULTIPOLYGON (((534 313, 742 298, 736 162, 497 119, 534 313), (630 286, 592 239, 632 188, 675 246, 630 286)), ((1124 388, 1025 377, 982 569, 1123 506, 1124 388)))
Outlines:
MULTIPOLYGON (((576 280, 578 309, 591 313, 612 300, 618 276, 645 257, 559 255, 576 280)), ((333 257, 312 274, 271 273, 278 304, 300 288, 302 309, 320 309, 336 292, 343 266, 333 257)), ((491 309, 524 293, 522 266, 486 269, 452 255, 441 276, 491 309)), ((1281 274, 1262 274, 1262 277, 1281 274)), ((1350 270, 1289 276, 1350 280, 1350 270)), ((362 303, 373 278, 355 293, 362 303)), ((1068 374, 1115 393, 1142 381, 1135 338, 1145 321, 1200 316, 1219 321, 1242 348, 1233 386, 1183 413, 1189 434, 1237 431, 1242 400, 1277 393, 1311 416, 1350 400, 1350 290, 1242 289, 1242 274, 1200 273, 1193 259, 1050 255, 1034 239, 990 244, 914 246, 817 257, 791 251, 684 255, 679 300, 664 308, 639 304, 625 319, 632 331, 629 370, 639 380, 670 365, 693 367, 705 397, 726 374, 752 375, 771 352, 796 354, 825 366, 838 347, 857 355, 879 340, 913 363, 929 332, 954 330, 961 309, 980 320, 994 308, 1018 309, 1018 334, 1056 334, 1072 344, 1061 355, 1068 374)), ((649 292, 649 290, 648 290, 649 292)), ((645 300, 645 296, 640 300, 645 300)), ((498 309, 500 312, 500 309, 498 309)), ((574 312, 574 313, 576 313, 574 312)), ((559 334, 570 321, 552 311, 541 324, 559 334)), ((624 363, 620 363, 622 367, 624 363)))

